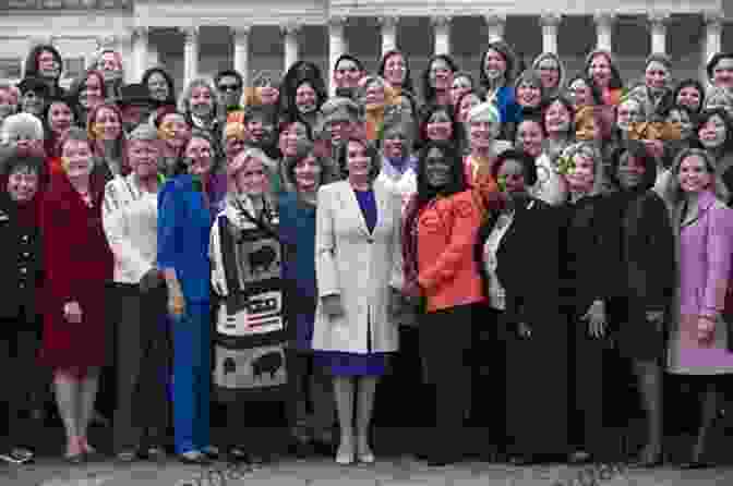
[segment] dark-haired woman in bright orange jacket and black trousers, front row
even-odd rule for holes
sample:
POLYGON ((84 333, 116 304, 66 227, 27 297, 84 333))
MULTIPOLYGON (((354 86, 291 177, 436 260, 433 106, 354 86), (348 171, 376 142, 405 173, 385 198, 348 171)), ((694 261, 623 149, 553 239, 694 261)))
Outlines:
POLYGON ((435 436, 424 459, 432 465, 457 462, 460 428, 470 403, 471 374, 465 352, 471 323, 485 301, 472 257, 485 203, 466 191, 456 147, 430 141, 420 153, 418 192, 404 226, 405 291, 424 300, 420 324, 423 376, 435 387, 435 436))

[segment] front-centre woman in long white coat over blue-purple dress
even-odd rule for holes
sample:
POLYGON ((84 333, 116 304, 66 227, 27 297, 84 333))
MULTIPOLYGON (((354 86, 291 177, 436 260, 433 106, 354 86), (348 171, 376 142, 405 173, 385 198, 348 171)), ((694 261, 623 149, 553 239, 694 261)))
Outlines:
POLYGON ((398 349, 390 307, 402 280, 401 202, 376 180, 378 154, 366 141, 349 139, 340 158, 348 178, 321 187, 317 196, 313 349, 334 376, 341 430, 336 462, 371 463, 374 391, 387 353, 398 349))

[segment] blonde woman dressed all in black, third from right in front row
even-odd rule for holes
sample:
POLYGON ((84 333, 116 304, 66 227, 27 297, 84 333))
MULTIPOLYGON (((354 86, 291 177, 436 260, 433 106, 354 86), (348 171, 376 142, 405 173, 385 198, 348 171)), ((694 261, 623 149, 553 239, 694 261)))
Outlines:
POLYGON ((567 189, 567 199, 558 206, 561 217, 561 311, 568 326, 570 355, 568 369, 575 369, 569 397, 574 397, 575 423, 570 442, 576 451, 570 462, 602 460, 606 455, 603 438, 603 351, 606 347, 606 301, 612 295, 614 275, 608 255, 614 254, 610 219, 605 215, 603 168, 598 148, 586 142, 566 147, 558 158, 558 170, 567 189))

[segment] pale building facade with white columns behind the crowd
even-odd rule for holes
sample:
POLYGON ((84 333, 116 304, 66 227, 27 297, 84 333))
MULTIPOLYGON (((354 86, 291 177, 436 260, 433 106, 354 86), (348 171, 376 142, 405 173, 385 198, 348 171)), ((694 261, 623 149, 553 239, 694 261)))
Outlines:
POLYGON ((248 80, 284 72, 298 59, 331 73, 347 51, 371 71, 395 47, 416 81, 433 53, 478 73, 496 38, 527 63, 556 52, 570 74, 590 50, 605 48, 626 80, 640 76, 651 52, 671 56, 682 78, 701 76, 712 53, 733 50, 730 0, 1 0, 0 11, 0 78, 22 77, 29 48, 50 41, 64 58, 63 84, 100 46, 122 52, 128 82, 163 65, 177 89, 226 68, 248 80))

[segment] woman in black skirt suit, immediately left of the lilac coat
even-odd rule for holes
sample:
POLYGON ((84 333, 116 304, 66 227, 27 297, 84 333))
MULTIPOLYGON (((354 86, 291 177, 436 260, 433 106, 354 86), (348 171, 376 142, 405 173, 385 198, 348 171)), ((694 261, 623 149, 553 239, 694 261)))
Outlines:
POLYGON ((609 177, 618 189, 609 205, 620 236, 610 320, 618 353, 632 362, 647 413, 647 442, 636 465, 652 466, 662 461, 662 363, 676 279, 674 235, 664 202, 651 191, 657 161, 644 144, 630 141, 620 147, 609 177))

